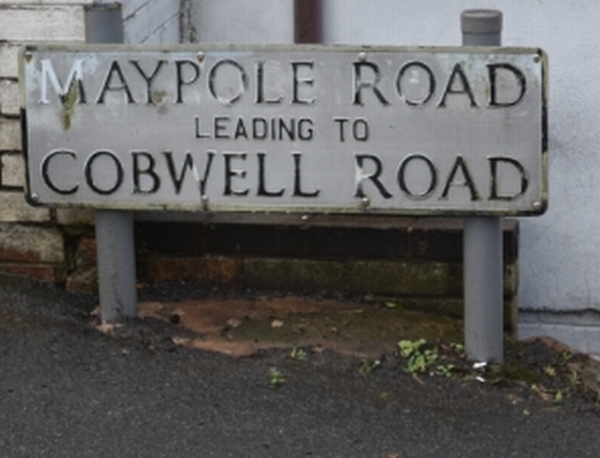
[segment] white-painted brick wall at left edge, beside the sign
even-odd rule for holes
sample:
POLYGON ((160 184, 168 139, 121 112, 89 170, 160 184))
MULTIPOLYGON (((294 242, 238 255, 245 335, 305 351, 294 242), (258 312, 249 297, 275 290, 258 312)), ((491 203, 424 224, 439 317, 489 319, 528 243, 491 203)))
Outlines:
POLYGON ((83 41, 83 4, 0 0, 0 271, 55 283, 65 282, 72 266, 56 212, 24 198, 17 56, 26 42, 83 41))

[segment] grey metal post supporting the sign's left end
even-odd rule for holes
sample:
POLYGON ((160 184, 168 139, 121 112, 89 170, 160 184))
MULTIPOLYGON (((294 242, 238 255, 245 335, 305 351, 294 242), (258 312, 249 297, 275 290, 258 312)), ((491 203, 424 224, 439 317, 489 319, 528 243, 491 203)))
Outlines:
MULTIPOLYGON (((85 9, 88 43, 123 43, 121 5, 91 5, 85 9)), ((98 294, 100 318, 117 322, 137 314, 133 213, 96 210, 98 294)))

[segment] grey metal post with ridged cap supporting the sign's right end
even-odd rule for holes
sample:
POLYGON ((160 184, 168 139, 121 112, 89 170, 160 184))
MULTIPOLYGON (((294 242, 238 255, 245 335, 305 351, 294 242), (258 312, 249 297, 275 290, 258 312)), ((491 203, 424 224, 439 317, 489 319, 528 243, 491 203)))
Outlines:
MULTIPOLYGON (((500 46, 502 13, 463 11, 461 29, 463 46, 500 46)), ((466 218, 463 237, 465 351, 473 361, 502 362, 502 218, 466 218)))

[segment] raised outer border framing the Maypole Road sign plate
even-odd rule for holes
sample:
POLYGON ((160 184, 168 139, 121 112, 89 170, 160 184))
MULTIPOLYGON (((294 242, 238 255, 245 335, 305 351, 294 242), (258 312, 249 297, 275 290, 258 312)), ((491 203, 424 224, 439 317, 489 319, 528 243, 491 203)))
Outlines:
POLYGON ((246 44, 177 44, 177 45, 122 45, 122 44, 64 44, 44 43, 28 44, 19 52, 19 81, 20 81, 20 111, 21 111, 21 137, 22 151, 25 161, 25 198, 32 206, 43 206, 50 208, 93 208, 98 210, 124 210, 124 211, 170 211, 170 212, 244 212, 244 213, 301 213, 301 214, 371 214, 371 215, 393 215, 398 217, 407 216, 534 216, 543 214, 548 208, 548 56, 540 48, 535 47, 476 47, 476 46, 354 46, 354 45, 246 45, 246 44), (455 210, 455 209, 382 209, 369 208, 368 206, 279 206, 268 205, 230 205, 230 204, 208 204, 196 205, 180 204, 128 204, 124 202, 99 202, 99 203, 40 203, 35 193, 31 191, 29 175, 29 149, 28 149, 28 123, 25 93, 25 66, 30 60, 33 52, 355 52, 355 53, 456 53, 456 54, 532 54, 538 56, 541 64, 541 201, 532 206, 530 210, 520 209, 493 209, 493 210, 455 210), (256 207, 256 208, 254 208, 256 207), (260 208, 259 208, 260 207, 260 208))

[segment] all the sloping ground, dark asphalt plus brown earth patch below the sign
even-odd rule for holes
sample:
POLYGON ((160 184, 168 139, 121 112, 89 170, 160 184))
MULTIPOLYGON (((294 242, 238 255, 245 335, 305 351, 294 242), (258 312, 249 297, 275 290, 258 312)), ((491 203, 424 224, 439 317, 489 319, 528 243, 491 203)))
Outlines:
POLYGON ((459 322, 397 303, 141 299, 101 326, 93 296, 0 276, 0 456, 600 456, 596 365, 554 342, 474 369, 459 322))

